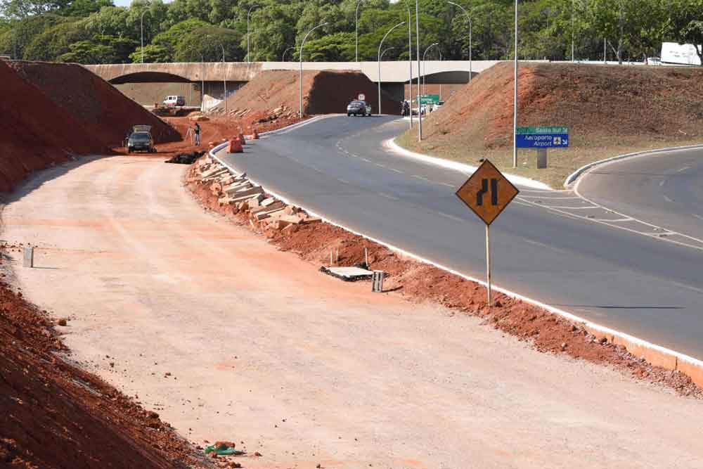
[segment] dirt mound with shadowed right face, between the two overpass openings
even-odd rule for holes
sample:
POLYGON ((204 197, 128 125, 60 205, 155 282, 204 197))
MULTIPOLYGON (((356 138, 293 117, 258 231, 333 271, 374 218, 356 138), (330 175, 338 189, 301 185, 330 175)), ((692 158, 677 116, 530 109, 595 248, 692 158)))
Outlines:
MULTIPOLYGON (((299 72, 267 70, 259 73, 227 100, 227 112, 235 117, 261 113, 266 117, 273 110, 285 108, 291 116, 299 110, 299 72)), ((343 113, 347 104, 359 93, 366 95, 374 112, 378 111, 378 87, 361 72, 303 72, 303 110, 305 114, 343 113)), ((381 96, 385 113, 399 113, 398 101, 381 96)), ((224 113, 220 103, 210 113, 224 113)), ((285 115, 285 113, 284 113, 285 115)))

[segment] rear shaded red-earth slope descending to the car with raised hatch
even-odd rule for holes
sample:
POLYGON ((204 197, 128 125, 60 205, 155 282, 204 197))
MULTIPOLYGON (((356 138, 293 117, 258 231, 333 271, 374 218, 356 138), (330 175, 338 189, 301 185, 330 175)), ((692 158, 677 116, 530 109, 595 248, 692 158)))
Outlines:
POLYGON ((121 146, 135 124, 152 126, 156 143, 180 139, 165 122, 81 65, 25 61, 9 65, 75 117, 80 127, 67 132, 71 139, 90 135, 110 148, 121 146))

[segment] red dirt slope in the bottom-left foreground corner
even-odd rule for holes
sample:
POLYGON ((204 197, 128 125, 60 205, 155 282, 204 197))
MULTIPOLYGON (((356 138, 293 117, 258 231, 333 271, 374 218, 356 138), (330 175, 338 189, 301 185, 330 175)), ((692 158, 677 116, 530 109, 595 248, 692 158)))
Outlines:
POLYGON ((62 359, 70 321, 52 321, 0 276, 0 467, 211 467, 157 413, 62 359))

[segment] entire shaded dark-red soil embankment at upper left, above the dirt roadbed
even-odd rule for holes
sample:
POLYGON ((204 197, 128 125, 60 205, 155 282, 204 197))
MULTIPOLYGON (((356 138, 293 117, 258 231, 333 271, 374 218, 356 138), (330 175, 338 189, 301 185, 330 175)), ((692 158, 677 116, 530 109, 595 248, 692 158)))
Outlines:
POLYGON ((74 155, 112 153, 134 124, 160 141, 175 129, 79 65, 0 61, 0 191, 74 155))

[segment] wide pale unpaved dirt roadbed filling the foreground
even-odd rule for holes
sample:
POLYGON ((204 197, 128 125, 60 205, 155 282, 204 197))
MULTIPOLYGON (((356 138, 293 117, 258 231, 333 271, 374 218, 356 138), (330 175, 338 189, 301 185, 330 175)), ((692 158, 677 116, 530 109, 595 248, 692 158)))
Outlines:
POLYGON ((703 402, 323 276, 205 213, 185 169, 49 169, 3 238, 38 246, 18 282, 74 359, 191 441, 242 441, 247 468, 703 465, 703 402))

